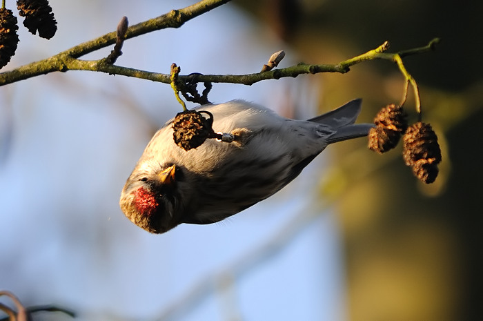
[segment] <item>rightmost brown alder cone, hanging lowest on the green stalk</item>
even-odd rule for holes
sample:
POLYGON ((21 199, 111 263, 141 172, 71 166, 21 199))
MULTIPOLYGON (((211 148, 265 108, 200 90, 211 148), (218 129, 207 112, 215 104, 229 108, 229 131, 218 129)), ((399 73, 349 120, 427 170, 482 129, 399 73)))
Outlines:
POLYGON ((426 184, 435 181, 441 162, 440 144, 430 124, 421 121, 409 126, 403 137, 403 158, 407 166, 413 166, 414 175, 426 184))

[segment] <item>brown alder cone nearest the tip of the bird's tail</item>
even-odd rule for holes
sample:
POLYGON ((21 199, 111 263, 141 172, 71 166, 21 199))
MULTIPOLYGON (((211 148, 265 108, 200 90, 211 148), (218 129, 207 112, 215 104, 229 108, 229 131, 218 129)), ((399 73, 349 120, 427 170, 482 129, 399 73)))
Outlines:
POLYGON ((404 109, 395 104, 382 108, 375 116, 374 124, 369 131, 368 147, 380 154, 395 148, 408 127, 404 109))

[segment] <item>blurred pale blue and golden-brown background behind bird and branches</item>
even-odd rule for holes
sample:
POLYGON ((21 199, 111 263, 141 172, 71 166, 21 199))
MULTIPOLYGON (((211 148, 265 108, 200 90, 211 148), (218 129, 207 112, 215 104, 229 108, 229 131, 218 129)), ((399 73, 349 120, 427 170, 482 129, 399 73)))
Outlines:
MULTIPOLYGON (((124 15, 135 24, 193 3, 51 0, 57 35, 20 26, 1 71, 115 30, 124 15)), ((126 41, 118 65, 168 73, 175 62, 186 75, 258 72, 278 50, 279 67, 335 64, 386 40, 397 51, 442 38, 404 59, 440 139, 435 183, 413 177, 400 147, 381 156, 356 139, 235 217, 164 235, 130 223, 118 200, 152 134, 180 110, 170 86, 70 71, 0 88, 0 289, 77 320, 481 320, 481 12, 477 1, 235 0, 126 41)), ((403 85, 394 64, 368 61, 346 75, 215 84, 209 98, 306 119, 362 97, 368 122, 403 85)))

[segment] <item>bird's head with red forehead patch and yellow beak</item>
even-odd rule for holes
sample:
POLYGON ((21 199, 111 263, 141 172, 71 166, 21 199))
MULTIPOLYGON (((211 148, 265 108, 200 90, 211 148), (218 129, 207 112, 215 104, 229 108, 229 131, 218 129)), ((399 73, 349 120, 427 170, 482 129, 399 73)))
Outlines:
POLYGON ((150 233, 165 233, 181 223, 178 166, 144 162, 132 171, 121 192, 119 205, 137 226, 150 233))

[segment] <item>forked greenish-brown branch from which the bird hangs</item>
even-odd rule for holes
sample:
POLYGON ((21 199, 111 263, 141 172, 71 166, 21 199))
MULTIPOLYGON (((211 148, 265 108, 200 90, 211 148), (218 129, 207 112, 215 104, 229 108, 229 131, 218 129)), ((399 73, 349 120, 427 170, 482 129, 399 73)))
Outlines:
MULTIPOLYGON (((193 6, 188 6, 179 10, 171 10, 170 12, 163 14, 157 18, 150 19, 138 23, 135 26, 130 26, 126 32, 125 39, 144 35, 148 32, 155 30, 161 30, 164 28, 179 28, 186 21, 198 17, 201 14, 208 12, 218 6, 227 3, 230 0, 202 0, 193 6)), ((0 86, 6 84, 12 84, 15 81, 28 79, 38 75, 44 75, 50 72, 61 71, 66 72, 68 70, 90 70, 97 72, 106 72, 110 75, 124 75, 127 77, 136 77, 140 79, 147 79, 151 81, 157 81, 164 84, 171 84, 169 74, 163 74, 158 72, 149 72, 146 70, 139 70, 134 68, 127 68, 108 64, 106 59, 99 60, 81 60, 79 57, 86 55, 95 50, 105 48, 116 42, 116 32, 110 32, 106 35, 81 43, 79 46, 72 47, 68 50, 60 52, 59 54, 52 56, 48 59, 33 62, 26 66, 21 66, 17 69, 0 73, 0 86)), ((362 55, 353 57, 339 62, 339 64, 297 64, 288 68, 281 68, 275 70, 269 70, 264 72, 257 72, 246 75, 201 75, 199 73, 190 75, 179 75, 178 81, 181 84, 195 84, 197 82, 204 83, 230 83, 230 84, 244 84, 252 85, 258 81, 267 79, 279 79, 282 77, 297 77, 302 74, 316 74, 319 72, 339 72, 345 73, 350 70, 350 67, 359 64, 362 61, 373 59, 386 59, 394 61, 400 67, 404 77, 408 80, 413 87, 415 87, 415 81, 413 81, 411 75, 404 69, 401 57, 408 55, 416 55, 422 52, 428 52, 433 50, 435 43, 439 39, 431 40, 428 45, 420 48, 413 48, 395 53, 384 52, 387 47, 387 41, 381 46, 370 50, 362 55)), ((417 93, 417 87, 415 87, 415 93, 417 93)), ((418 107, 419 108, 419 107, 418 107)))

